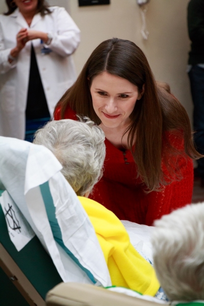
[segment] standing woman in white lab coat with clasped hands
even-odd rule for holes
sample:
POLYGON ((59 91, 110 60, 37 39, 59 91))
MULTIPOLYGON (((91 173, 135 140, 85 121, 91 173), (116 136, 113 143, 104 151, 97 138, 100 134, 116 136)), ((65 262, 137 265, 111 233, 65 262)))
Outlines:
POLYGON ((75 81, 71 54, 80 30, 64 8, 44 0, 6 4, 8 12, 0 15, 0 135, 30 140, 75 81))

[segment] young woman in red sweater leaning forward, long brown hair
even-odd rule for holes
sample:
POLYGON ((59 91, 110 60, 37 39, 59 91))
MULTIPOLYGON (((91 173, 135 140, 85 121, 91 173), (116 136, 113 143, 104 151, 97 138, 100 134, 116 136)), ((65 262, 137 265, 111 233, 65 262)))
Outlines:
POLYGON ((133 42, 99 44, 55 109, 55 119, 88 116, 106 135, 104 175, 91 198, 119 219, 151 225, 191 202, 193 146, 188 115, 157 85, 133 42))

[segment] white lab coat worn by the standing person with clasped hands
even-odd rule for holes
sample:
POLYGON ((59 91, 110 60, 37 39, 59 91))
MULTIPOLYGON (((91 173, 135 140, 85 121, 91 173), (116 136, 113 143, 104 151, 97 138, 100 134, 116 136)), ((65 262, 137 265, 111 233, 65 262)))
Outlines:
POLYGON ((11 64, 8 56, 16 46, 16 34, 29 28, 16 9, 11 15, 0 15, 0 135, 24 139, 25 109, 30 73, 31 43, 34 46, 38 68, 48 109, 52 116, 62 94, 75 82, 76 73, 71 54, 80 42, 80 30, 64 8, 50 7, 52 14, 39 13, 30 29, 50 33, 52 52, 42 54, 40 39, 28 41, 11 64))

